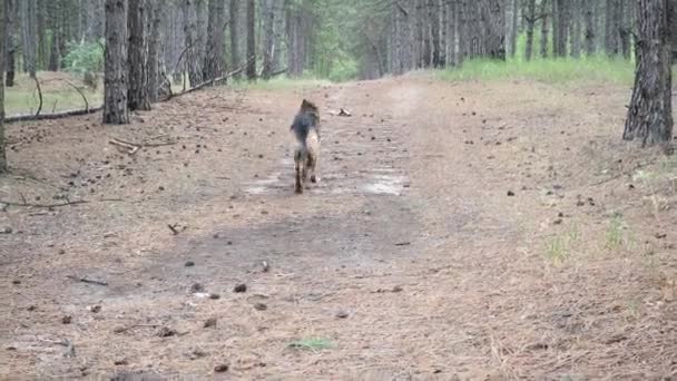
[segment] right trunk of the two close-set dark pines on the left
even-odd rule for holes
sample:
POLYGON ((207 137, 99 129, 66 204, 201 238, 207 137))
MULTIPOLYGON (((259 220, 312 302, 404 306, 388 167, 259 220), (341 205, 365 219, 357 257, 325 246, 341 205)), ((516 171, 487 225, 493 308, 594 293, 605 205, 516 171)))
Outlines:
POLYGON ((127 14, 128 70, 129 81, 127 105, 129 110, 149 110, 150 95, 148 91, 148 50, 146 31, 145 0, 128 0, 127 14))

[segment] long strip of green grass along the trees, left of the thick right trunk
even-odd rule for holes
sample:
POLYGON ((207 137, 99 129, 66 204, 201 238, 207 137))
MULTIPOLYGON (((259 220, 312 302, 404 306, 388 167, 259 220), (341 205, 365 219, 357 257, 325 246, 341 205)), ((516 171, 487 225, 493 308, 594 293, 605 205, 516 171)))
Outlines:
POLYGON ((473 59, 460 68, 441 70, 438 77, 449 81, 532 79, 544 84, 610 82, 630 86, 635 78, 635 63, 607 57, 531 61, 473 59))

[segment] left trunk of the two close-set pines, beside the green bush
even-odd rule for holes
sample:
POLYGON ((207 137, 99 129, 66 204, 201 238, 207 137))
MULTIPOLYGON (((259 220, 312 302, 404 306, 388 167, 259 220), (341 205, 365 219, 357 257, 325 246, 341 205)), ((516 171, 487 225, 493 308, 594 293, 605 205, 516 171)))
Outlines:
POLYGON ((127 1, 106 0, 105 124, 129 123, 127 75, 127 1))

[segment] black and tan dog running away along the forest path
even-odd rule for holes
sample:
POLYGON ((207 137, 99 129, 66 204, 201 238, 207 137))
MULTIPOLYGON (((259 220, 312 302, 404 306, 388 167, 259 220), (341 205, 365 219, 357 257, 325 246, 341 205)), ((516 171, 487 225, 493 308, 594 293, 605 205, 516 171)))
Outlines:
POLYGON ((320 159, 320 111, 313 102, 303 99, 301 109, 294 117, 291 130, 296 138, 294 148, 294 192, 303 193, 306 177, 317 183, 317 160, 320 159))

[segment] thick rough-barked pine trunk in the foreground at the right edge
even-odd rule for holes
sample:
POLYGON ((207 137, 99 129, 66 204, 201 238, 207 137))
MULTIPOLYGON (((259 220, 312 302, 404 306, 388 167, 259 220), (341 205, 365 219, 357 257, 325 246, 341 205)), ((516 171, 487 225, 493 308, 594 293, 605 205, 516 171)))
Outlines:
POLYGON ((635 87, 622 134, 642 146, 673 138, 670 30, 668 1, 639 0, 635 87))

